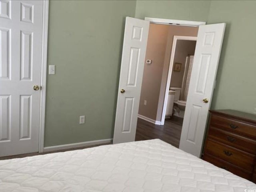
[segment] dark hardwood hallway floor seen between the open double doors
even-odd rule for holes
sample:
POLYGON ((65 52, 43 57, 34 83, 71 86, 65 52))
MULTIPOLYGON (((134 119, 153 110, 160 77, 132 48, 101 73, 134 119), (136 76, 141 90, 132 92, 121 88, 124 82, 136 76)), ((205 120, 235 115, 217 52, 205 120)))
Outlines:
POLYGON ((182 122, 183 118, 172 116, 165 119, 164 125, 155 125, 138 118, 135 140, 161 139, 178 148, 182 122))

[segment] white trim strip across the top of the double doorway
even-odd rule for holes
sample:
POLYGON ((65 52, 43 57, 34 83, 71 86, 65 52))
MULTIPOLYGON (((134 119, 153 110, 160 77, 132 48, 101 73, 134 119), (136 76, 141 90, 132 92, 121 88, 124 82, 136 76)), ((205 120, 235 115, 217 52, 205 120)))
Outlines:
POLYGON ((189 21, 189 20, 176 20, 176 19, 162 19, 162 18, 153 18, 145 17, 144 20, 151 23, 165 24, 165 25, 182 25, 190 27, 198 27, 200 25, 205 25, 205 21, 189 21))

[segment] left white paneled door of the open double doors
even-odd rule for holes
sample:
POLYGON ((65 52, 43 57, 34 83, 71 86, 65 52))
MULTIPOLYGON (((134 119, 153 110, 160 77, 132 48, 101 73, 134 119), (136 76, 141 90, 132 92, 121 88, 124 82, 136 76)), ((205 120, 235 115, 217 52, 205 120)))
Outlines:
POLYGON ((149 21, 126 17, 113 143, 135 140, 149 21))

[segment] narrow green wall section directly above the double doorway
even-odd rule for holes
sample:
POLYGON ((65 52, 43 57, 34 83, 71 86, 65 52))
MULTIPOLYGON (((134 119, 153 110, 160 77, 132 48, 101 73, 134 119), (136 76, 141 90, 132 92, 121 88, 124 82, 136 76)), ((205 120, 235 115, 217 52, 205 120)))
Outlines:
POLYGON ((208 0, 137 0, 135 16, 206 21, 209 10, 208 0))

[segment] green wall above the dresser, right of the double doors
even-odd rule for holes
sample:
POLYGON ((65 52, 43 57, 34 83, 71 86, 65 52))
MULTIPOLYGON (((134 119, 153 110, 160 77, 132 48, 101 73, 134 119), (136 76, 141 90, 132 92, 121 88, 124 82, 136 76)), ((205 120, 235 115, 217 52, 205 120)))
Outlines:
POLYGON ((212 1, 208 23, 226 23, 212 108, 256 114, 256 1, 212 1))

